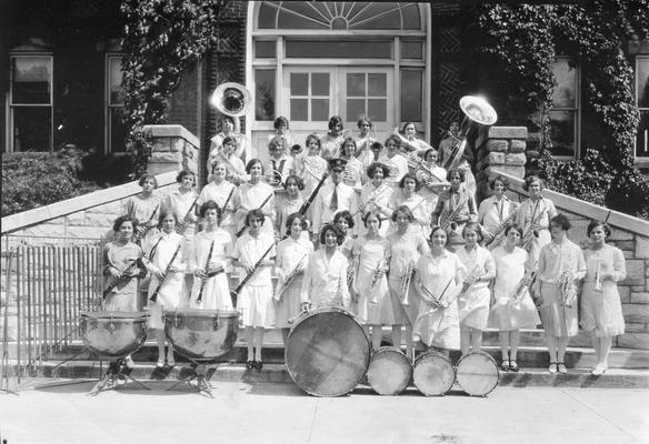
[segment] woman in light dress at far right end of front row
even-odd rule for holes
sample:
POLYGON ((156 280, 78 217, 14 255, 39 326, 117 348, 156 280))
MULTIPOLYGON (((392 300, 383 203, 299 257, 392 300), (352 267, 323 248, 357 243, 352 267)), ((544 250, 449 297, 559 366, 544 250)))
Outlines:
POLYGON ((625 280, 627 269, 621 250, 606 243, 611 235, 606 222, 590 222, 587 233, 590 245, 585 252, 587 272, 581 294, 581 326, 592 335, 597 355, 592 374, 599 376, 608 369, 612 336, 625 333, 617 283, 625 280))

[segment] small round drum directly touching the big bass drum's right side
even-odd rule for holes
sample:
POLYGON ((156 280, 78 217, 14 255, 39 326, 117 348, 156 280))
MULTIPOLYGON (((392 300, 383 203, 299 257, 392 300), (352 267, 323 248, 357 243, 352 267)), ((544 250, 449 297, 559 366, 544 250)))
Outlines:
POLYGON ((368 382, 380 395, 398 395, 412 380, 412 364, 393 346, 382 346, 372 353, 368 382))

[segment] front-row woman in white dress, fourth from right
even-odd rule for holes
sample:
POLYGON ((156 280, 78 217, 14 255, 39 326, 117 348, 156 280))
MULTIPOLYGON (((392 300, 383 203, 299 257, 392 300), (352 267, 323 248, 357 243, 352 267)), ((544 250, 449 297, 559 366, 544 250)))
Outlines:
POLYGON ((462 290, 458 296, 460 315, 460 349, 462 356, 479 352, 482 347, 482 331, 489 320, 491 292, 489 282, 496 278, 496 264, 491 253, 478 242, 482 240, 480 225, 469 222, 462 230, 463 248, 456 254, 467 272, 462 290))

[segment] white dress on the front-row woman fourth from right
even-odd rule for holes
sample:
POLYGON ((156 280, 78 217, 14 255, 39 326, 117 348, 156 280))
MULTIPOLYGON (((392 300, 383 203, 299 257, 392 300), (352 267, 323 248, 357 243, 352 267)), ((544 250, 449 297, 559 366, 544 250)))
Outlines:
MULTIPOLYGON (((467 273, 465 280, 471 274, 480 276, 496 271, 491 253, 480 245, 476 245, 471 251, 467 251, 466 246, 459 248, 456 254, 465 265, 467 273)), ((467 289, 465 294, 458 297, 460 326, 485 330, 489 320, 490 299, 489 282, 476 282, 467 289)))

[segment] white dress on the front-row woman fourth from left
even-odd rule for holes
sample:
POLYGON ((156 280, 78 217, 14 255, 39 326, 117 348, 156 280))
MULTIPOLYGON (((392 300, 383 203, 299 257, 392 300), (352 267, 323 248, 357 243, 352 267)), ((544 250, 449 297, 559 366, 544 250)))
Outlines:
MULTIPOLYGON (((241 264, 253 266, 266 254, 264 260, 274 258, 274 238, 272 234, 260 233, 258 238, 249 233, 237 239, 232 259, 241 264), (271 248, 272 246, 272 248, 271 248)), ((260 266, 241 289, 237 300, 237 309, 241 311, 241 320, 246 326, 271 327, 274 325, 274 306, 272 303, 272 281, 270 266, 260 266)), ((241 271, 240 282, 246 272, 241 271)))

